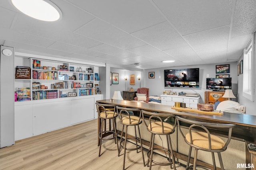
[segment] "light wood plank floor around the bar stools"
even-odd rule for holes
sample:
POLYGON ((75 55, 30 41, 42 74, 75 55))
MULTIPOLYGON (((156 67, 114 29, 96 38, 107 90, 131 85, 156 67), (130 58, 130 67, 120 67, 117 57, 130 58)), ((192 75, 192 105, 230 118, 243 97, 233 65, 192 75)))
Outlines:
MULTIPOLYGON (((102 155, 97 146, 97 120, 66 127, 0 149, 0 169, 4 170, 122 170, 123 150, 118 157, 113 140, 103 141, 102 155)), ((133 145, 129 143, 129 145, 133 145)), ((144 150, 145 161, 147 150, 144 150)), ((162 159, 165 159, 161 156, 162 159)), ((141 152, 126 151, 126 169, 148 170, 141 152)), ((169 170, 170 166, 152 164, 152 170, 169 170)), ((184 170, 176 164, 177 170, 184 170)))

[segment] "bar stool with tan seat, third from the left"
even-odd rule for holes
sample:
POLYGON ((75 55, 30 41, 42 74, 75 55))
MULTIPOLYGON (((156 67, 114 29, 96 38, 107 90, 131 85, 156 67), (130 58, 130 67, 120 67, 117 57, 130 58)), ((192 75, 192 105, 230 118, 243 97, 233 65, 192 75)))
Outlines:
POLYGON ((167 113, 153 113, 145 110, 141 110, 142 112, 142 119, 144 121, 144 124, 147 127, 147 130, 150 131, 151 133, 151 138, 150 138, 150 147, 147 152, 148 156, 148 163, 147 166, 149 166, 149 169, 151 170, 152 162, 154 164, 162 165, 162 166, 168 166, 170 165, 170 168, 172 169, 172 166, 174 170, 176 169, 175 167, 175 157, 172 151, 172 143, 171 143, 171 138, 170 134, 174 133, 175 127, 176 127, 176 119, 175 115, 172 114, 167 114, 167 113), (149 122, 146 123, 145 116, 149 116, 149 122), (173 117, 175 122, 174 126, 172 126, 170 123, 166 123, 165 121, 162 120, 162 118, 169 118, 173 117), (155 140, 155 135, 166 135, 166 140, 167 140, 167 146, 168 149, 163 148, 154 148, 154 140, 155 140), (169 156, 169 162, 168 163, 160 163, 156 162, 153 160, 153 151, 154 150, 163 150, 165 153, 168 153, 169 156), (171 159, 172 156, 172 159, 171 159), (148 165, 150 163, 150 165, 148 165))

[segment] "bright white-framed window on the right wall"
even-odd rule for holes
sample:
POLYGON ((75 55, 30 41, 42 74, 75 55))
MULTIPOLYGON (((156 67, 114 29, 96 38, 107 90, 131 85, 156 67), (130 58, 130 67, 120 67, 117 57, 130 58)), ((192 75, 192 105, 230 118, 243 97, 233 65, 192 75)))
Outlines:
POLYGON ((254 37, 252 34, 248 45, 244 49, 244 66, 243 70, 243 96, 251 101, 254 101, 254 37))

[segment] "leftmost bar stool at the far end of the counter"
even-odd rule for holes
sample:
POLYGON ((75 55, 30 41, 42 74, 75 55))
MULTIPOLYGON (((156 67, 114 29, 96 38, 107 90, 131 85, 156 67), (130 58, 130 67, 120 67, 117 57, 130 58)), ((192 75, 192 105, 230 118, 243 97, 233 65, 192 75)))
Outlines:
MULTIPOLYGON (((117 141, 117 133, 116 133, 116 106, 112 105, 112 104, 99 104, 98 102, 96 102, 96 106, 97 106, 97 111, 98 111, 98 118, 100 119, 100 132, 98 135, 98 138, 100 139, 100 144, 98 146, 100 146, 101 149, 101 144, 102 144, 102 140, 111 140, 111 139, 115 139, 115 143, 117 146, 117 150, 119 152, 119 147, 118 147, 118 141, 117 141), (106 130, 106 120, 109 120, 109 127, 108 130, 106 130), (113 125, 113 129, 111 127, 111 121, 112 121, 112 125, 113 125), (108 135, 112 135, 113 137, 111 138, 107 138, 108 135)), ((100 156, 100 150, 99 150, 99 156, 100 156)))

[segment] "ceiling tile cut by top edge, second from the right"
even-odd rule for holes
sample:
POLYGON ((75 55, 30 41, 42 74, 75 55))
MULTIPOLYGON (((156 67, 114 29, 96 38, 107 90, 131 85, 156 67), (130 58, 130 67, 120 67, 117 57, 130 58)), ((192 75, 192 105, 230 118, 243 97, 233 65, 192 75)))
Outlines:
POLYGON ((232 0, 153 0, 182 35, 224 25, 231 21, 232 0))

